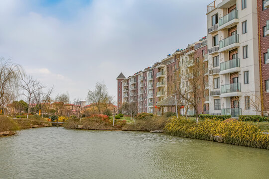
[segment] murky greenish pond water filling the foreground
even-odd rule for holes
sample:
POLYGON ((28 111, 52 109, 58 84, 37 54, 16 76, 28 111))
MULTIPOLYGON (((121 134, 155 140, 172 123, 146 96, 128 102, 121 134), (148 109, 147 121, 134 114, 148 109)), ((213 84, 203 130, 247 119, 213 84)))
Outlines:
POLYGON ((0 179, 269 179, 269 151, 145 132, 35 128, 0 138, 0 179))

